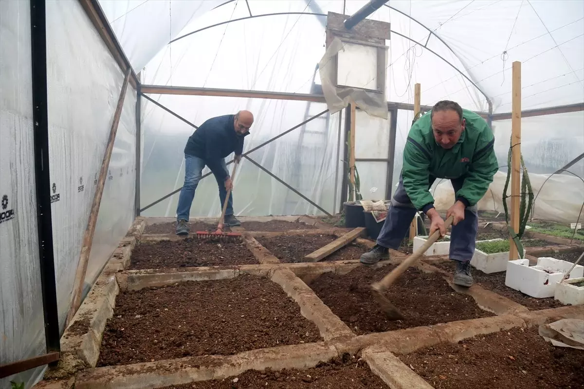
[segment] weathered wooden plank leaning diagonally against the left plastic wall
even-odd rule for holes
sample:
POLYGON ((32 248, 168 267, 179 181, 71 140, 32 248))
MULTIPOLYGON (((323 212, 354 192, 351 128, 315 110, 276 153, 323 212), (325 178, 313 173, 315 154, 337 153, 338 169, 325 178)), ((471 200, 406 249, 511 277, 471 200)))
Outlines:
POLYGON ((124 106, 124 98, 126 97, 126 89, 128 88, 128 81, 130 80, 131 68, 126 71, 124 82, 121 85, 120 97, 117 100, 116 112, 113 115, 112 128, 110 129, 109 139, 107 139, 106 150, 103 153, 102 167, 99 171, 98 185, 95 188, 93 195, 93 203, 91 204, 91 212, 85 234, 83 236, 83 246, 81 247, 81 254, 79 255, 79 263, 77 264, 77 272, 75 273, 75 283, 73 285, 73 297, 71 307, 67 313, 67 320, 65 321, 65 328, 71 323, 72 318, 81 305, 81 293, 83 291, 83 283, 85 281, 85 273, 87 272, 87 263, 89 262, 89 254, 91 253, 91 245, 93 243, 93 233, 95 232, 95 225, 98 221, 99 205, 102 202, 103 187, 105 186, 107 168, 112 157, 113 143, 116 140, 117 125, 120 122, 121 109, 124 106))

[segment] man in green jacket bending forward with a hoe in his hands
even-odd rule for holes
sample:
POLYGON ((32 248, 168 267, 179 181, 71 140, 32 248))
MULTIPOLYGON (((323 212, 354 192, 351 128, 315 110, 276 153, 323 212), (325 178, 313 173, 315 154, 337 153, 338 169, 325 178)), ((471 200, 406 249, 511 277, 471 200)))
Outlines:
POLYGON ((430 219, 430 234, 446 234, 444 220, 434 208, 429 191, 436 178, 447 178, 456 202, 447 212, 453 215, 450 259, 456 261, 454 283, 471 286, 470 260, 478 231, 477 202, 484 196, 498 170, 493 149, 495 138, 486 121, 454 101, 439 101, 420 117, 408 134, 404 167, 398 188, 377 244, 361 255, 364 264, 388 257, 388 248, 397 250, 408 232, 416 209, 430 219))

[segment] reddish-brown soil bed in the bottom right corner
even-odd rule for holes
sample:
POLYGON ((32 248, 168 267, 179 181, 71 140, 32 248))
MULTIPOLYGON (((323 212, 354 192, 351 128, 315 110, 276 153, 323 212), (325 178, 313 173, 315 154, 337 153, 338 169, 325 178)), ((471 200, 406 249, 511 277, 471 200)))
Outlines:
POLYGON ((439 344, 399 359, 435 388, 584 388, 584 352, 554 347, 537 327, 439 344))

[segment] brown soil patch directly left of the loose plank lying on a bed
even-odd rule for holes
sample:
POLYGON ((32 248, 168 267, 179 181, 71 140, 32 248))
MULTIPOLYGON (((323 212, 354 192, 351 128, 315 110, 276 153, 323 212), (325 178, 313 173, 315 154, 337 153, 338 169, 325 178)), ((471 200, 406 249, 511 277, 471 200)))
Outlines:
POLYGON ((334 235, 258 237, 256 240, 280 262, 304 262, 304 257, 337 239, 334 235))

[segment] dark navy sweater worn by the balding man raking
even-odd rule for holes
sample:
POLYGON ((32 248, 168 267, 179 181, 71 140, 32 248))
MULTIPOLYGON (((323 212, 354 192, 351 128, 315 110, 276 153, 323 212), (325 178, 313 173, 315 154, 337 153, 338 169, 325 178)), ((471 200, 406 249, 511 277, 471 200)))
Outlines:
POLYGON ((221 160, 232 152, 241 155, 244 137, 249 135, 249 131, 244 135, 235 132, 234 117, 223 115, 208 119, 189 136, 185 146, 185 154, 203 159, 213 173, 224 174, 224 180, 229 173, 222 169, 221 160))

